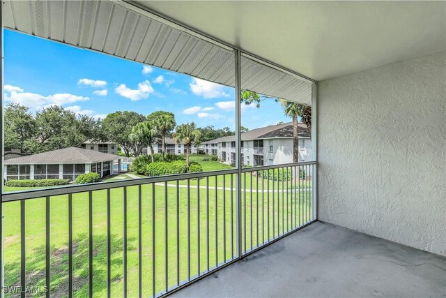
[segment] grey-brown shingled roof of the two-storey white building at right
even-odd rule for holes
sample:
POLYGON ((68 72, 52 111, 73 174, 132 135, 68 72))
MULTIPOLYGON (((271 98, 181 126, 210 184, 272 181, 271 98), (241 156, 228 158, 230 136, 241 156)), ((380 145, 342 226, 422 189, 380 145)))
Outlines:
MULTIPOLYGON (((242 141, 280 137, 293 137, 293 122, 255 128, 252 131, 242 133, 242 141)), ((299 124, 299 137, 311 137, 311 131, 309 128, 307 128, 306 124, 299 124)), ((233 142, 235 140, 235 135, 229 135, 227 137, 219 137, 215 140, 203 142, 203 144, 233 142)))

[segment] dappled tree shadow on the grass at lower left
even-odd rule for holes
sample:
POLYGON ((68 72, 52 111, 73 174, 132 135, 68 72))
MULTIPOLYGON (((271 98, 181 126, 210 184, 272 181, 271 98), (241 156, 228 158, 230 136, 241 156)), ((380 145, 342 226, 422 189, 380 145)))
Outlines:
MULTIPOLYGON (((130 243, 135 237, 128 237, 128 251, 136 250, 130 243)), ((111 267, 123 268, 123 238, 112 234, 111 267)), ((20 253, 17 251, 17 253, 20 253)), ((26 252, 26 287, 45 286, 45 245, 26 252)), ((72 244, 72 292, 75 297, 89 295, 89 235, 80 234, 72 244)), ((68 297, 68 243, 66 246, 52 246, 50 255, 50 294, 51 297, 68 297)), ((121 282, 122 269, 113 272, 112 283, 121 282)), ((20 286, 20 258, 17 262, 5 264, 5 286, 20 286)), ((107 235, 93 236, 93 292, 107 289, 107 235)), ((35 294, 40 297, 42 293, 35 294)), ((26 293, 26 297, 32 297, 26 293)), ((20 297, 20 292, 6 293, 5 297, 20 297)))

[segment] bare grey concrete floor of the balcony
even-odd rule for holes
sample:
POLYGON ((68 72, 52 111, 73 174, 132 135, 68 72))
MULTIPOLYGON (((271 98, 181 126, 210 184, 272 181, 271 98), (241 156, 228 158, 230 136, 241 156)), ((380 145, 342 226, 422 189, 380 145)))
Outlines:
POLYGON ((172 297, 445 297, 446 258, 316 222, 172 297))

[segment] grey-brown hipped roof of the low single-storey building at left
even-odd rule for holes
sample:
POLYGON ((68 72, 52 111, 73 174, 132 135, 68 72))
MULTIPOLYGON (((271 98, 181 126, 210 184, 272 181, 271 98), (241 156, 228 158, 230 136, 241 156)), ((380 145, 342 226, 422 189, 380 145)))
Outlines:
POLYGON ((29 165, 45 163, 100 163, 101 161, 113 161, 121 156, 86 150, 76 147, 68 147, 59 150, 47 151, 29 156, 11 158, 5 161, 6 165, 29 165))

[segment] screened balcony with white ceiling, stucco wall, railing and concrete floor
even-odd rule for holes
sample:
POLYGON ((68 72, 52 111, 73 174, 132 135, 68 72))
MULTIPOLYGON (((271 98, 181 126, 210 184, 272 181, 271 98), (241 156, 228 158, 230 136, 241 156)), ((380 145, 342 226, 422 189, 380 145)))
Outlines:
POLYGON ((2 185, 2 297, 444 297, 445 8, 4 1, 2 28, 231 88, 236 142, 229 170, 2 185), (243 165, 243 91, 311 106, 304 163, 243 165))

